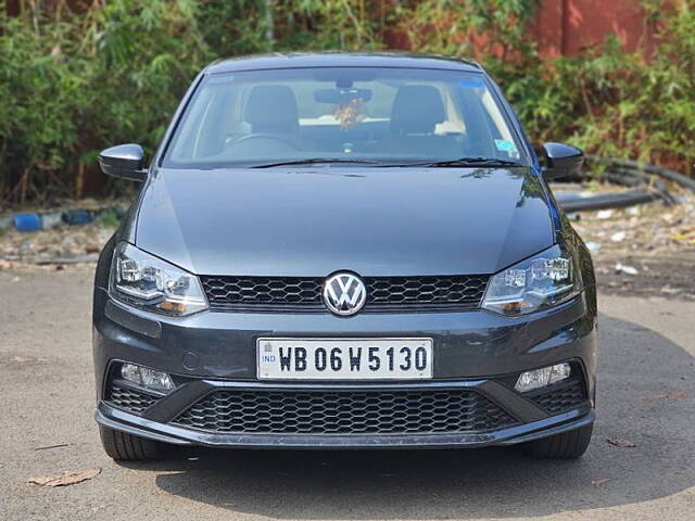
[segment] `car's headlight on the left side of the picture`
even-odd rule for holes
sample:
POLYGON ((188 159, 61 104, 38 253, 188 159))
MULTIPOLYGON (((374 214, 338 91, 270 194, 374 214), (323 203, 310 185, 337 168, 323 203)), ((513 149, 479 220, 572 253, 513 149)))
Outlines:
POLYGON ((207 309, 198 277, 121 242, 116 246, 111 294, 134 306, 181 317, 207 309))

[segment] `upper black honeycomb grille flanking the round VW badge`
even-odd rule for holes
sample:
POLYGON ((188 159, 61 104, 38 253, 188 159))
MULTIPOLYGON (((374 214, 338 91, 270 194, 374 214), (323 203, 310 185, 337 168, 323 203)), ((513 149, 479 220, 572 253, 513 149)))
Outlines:
MULTIPOLYGON (((364 312, 389 309, 475 309, 485 292, 489 276, 366 277, 364 312)), ((326 310, 324 278, 202 276, 213 309, 326 310)))

